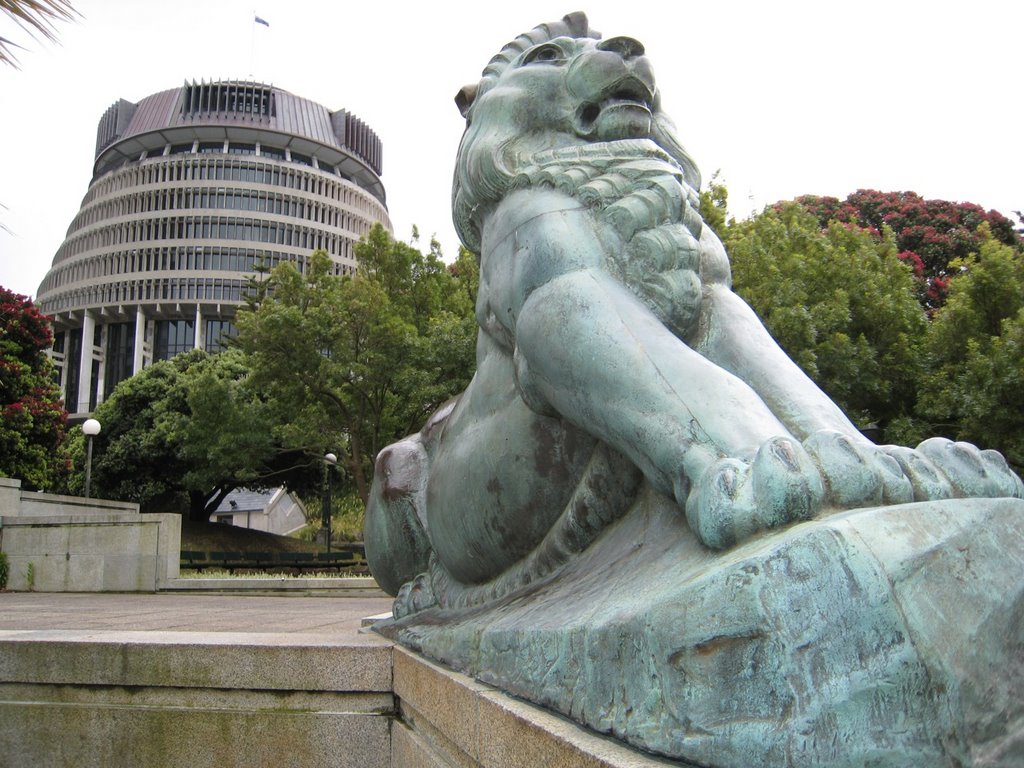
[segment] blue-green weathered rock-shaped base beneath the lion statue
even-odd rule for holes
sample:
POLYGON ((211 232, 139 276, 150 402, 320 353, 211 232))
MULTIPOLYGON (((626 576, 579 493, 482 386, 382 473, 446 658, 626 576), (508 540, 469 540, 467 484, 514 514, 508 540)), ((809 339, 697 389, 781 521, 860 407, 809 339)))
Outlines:
POLYGON ((725 555, 677 516, 647 495, 555 578, 384 632, 700 765, 1024 762, 1024 502, 853 510, 725 555))

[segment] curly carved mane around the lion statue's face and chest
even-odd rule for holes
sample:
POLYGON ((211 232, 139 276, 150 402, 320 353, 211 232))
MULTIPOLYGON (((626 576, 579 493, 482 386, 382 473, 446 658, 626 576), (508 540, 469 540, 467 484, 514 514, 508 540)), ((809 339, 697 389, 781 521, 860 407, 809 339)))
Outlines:
MULTIPOLYGON (((608 271, 663 323, 688 337, 699 314, 706 247, 696 191, 700 173, 668 116, 655 104, 651 138, 600 141, 546 124, 537 108, 537 115, 525 118, 531 130, 524 131, 520 121, 508 121, 483 98, 502 87, 502 76, 523 52, 557 38, 598 41, 601 35, 582 12, 540 25, 505 45, 479 83, 456 97, 467 123, 453 183, 459 237, 469 250, 480 253, 483 220, 495 205, 516 189, 556 188, 617 232, 625 248, 609 254, 608 271)), ((500 103, 495 95, 492 101, 500 103)))

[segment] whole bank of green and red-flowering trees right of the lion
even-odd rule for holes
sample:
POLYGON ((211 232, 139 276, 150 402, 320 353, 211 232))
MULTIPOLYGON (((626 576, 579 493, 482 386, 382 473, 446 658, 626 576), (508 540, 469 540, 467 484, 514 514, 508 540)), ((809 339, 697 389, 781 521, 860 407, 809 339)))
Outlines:
MULTIPOLYGON (((702 215, 721 225, 727 200, 713 181, 702 215)), ((1009 219, 862 189, 719 233, 737 293, 861 428, 969 440, 1024 468, 1024 249, 1009 219)))

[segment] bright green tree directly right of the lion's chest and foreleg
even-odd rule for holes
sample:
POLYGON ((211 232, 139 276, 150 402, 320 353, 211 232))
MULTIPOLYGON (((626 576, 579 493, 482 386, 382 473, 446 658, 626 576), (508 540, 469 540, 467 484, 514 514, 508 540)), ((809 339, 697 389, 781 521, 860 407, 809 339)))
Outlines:
POLYGON ((890 234, 822 230, 790 203, 732 222, 725 243, 736 292, 855 423, 885 430, 912 413, 927 322, 890 234))

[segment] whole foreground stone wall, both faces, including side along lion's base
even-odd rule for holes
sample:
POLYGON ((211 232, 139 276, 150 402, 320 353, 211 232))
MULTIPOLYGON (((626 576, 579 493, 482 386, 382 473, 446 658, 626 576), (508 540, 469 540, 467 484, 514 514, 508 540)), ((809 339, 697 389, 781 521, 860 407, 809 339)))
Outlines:
POLYGON ((0 756, 76 768, 680 765, 373 635, 95 629, 0 630, 0 756))

